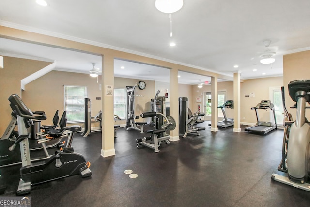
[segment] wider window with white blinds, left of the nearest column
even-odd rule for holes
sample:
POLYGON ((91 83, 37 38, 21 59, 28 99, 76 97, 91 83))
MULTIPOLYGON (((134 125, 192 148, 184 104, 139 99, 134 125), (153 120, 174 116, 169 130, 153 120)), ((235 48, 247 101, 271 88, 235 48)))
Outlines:
POLYGON ((64 111, 67 111, 67 123, 85 121, 86 86, 64 85, 64 111))

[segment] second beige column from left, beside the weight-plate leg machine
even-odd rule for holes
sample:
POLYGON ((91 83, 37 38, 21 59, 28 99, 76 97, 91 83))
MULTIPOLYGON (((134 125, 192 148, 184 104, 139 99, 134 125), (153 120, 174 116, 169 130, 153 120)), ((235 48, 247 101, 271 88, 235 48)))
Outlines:
POLYGON ((178 69, 170 69, 170 116, 175 120, 176 127, 173 131, 170 131, 170 141, 178 141, 179 137, 179 81, 178 81, 178 69))

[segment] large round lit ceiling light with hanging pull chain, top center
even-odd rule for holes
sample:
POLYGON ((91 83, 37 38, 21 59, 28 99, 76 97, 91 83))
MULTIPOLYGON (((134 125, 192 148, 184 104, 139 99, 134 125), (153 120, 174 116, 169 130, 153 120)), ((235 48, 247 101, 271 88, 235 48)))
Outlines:
POLYGON ((183 6, 183 0, 155 0, 155 7, 163 13, 169 14, 170 36, 172 37, 172 13, 179 11, 183 6))

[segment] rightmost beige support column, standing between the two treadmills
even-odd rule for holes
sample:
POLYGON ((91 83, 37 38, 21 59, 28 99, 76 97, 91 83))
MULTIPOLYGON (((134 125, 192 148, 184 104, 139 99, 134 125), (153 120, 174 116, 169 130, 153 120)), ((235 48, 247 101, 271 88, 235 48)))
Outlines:
POLYGON ((240 132, 240 73, 233 74, 233 131, 240 132))

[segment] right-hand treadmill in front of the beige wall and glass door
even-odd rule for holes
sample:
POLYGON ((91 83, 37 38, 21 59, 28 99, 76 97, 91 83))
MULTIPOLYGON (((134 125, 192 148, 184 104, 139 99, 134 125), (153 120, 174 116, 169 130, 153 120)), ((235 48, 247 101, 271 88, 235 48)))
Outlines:
POLYGON ((250 131, 253 133, 259 133, 266 135, 268 132, 278 129, 277 128, 277 121, 276 121, 276 113, 275 113, 275 107, 273 103, 271 103, 270 100, 262 100, 260 103, 256 105, 256 107, 252 107, 251 109, 255 110, 256 113, 256 119, 257 123, 254 126, 246 127, 245 131, 250 131), (272 122, 261 122, 257 113, 257 109, 265 109, 265 110, 272 110, 273 111, 273 118, 275 121, 275 124, 272 124, 272 122))

